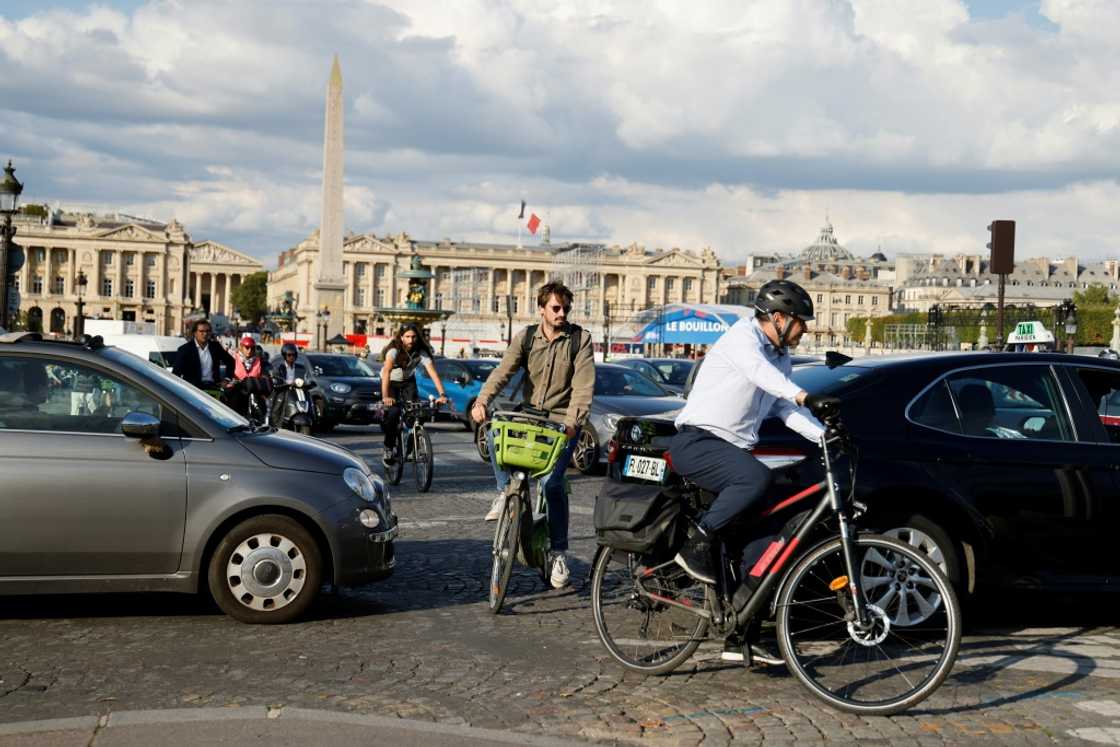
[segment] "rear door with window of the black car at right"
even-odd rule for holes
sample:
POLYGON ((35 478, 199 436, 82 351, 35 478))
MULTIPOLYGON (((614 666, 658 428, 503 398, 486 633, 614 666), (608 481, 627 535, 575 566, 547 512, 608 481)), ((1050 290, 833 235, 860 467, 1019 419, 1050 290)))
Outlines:
POLYGON ((1083 543, 1100 486, 1053 367, 979 366, 949 375, 946 383, 970 457, 953 482, 995 532, 989 562, 1011 582, 1032 587, 1099 575, 1083 543))

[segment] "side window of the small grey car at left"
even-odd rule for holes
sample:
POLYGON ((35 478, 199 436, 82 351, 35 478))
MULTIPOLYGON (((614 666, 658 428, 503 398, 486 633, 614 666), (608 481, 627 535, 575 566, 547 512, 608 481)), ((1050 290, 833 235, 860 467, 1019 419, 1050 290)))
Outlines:
POLYGON ((162 419, 157 400, 116 376, 49 358, 0 358, 0 429, 119 433, 130 412, 162 419))

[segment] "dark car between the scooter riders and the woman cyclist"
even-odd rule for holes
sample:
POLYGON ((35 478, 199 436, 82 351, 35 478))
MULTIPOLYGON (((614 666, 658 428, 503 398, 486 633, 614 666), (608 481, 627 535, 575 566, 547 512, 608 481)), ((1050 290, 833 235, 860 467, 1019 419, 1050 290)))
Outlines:
POLYGON ((381 373, 353 355, 308 353, 318 428, 338 423, 365 424, 381 420, 381 373))

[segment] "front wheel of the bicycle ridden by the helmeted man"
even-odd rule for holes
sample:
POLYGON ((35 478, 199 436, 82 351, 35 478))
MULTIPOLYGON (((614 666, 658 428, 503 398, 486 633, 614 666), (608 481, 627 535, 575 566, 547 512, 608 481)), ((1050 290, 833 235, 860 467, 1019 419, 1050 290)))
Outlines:
POLYGON ((790 570, 777 604, 778 645, 794 676, 833 708, 888 716, 921 702, 949 675, 961 643, 961 608, 944 573, 920 550, 864 535, 852 552, 870 625, 855 623, 837 538, 790 570), (915 603, 928 607, 922 622, 896 625, 907 618, 908 599, 924 599, 904 592, 917 586, 941 604, 915 603))

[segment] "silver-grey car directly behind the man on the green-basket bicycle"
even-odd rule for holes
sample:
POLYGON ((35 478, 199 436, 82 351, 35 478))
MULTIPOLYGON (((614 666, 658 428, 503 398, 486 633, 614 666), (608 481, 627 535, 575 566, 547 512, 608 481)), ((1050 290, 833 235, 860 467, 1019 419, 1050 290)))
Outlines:
MULTIPOLYGON (((519 371, 491 402, 489 411, 513 410, 521 404, 524 371, 519 371)), ((591 413, 579 432, 579 443, 571 457, 572 466, 585 475, 599 471, 606 464, 605 446, 622 418, 661 415, 672 419, 683 405, 684 402, 679 396, 637 371, 612 363, 595 364, 591 413)), ((483 428, 476 433, 475 447, 482 460, 489 461, 489 448, 483 428)))

